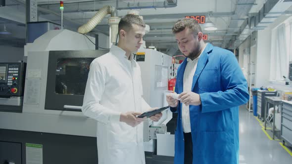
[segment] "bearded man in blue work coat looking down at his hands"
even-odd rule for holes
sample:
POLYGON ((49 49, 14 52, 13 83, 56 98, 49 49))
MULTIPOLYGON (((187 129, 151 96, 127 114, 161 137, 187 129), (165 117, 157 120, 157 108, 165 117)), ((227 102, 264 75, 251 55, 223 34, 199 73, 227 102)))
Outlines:
POLYGON ((175 92, 167 96, 178 113, 175 164, 239 164, 239 106, 248 100, 247 83, 235 55, 204 43, 196 20, 173 27, 186 56, 177 71, 175 92))

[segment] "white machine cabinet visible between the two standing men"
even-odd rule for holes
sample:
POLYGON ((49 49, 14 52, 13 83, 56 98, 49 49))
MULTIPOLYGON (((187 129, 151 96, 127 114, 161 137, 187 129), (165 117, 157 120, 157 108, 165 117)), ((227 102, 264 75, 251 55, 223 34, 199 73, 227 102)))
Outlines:
MULTIPOLYGON (((164 93, 168 92, 172 57, 149 48, 141 48, 138 52, 145 52, 145 61, 138 61, 141 68, 143 98, 152 108, 167 106, 163 102, 166 101, 164 93)), ((162 118, 154 125, 166 124, 171 119, 172 113, 168 109, 163 112, 162 118)))

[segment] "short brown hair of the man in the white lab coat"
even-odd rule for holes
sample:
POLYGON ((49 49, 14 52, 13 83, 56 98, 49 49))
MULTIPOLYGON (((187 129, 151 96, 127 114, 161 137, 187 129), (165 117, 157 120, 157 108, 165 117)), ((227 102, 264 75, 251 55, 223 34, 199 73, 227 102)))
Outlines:
POLYGON ((129 31, 132 28, 132 24, 136 24, 142 27, 145 27, 144 21, 138 16, 133 14, 125 15, 119 22, 119 32, 123 29, 129 31))

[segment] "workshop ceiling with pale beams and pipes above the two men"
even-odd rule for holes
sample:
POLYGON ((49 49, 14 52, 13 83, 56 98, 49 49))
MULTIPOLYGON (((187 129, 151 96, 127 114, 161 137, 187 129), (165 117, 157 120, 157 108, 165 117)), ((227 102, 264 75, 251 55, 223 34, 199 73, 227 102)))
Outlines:
MULTIPOLYGON (((207 17, 211 12, 209 19, 218 29, 216 31, 203 30, 203 33, 208 35, 208 40, 206 42, 211 42, 212 44, 223 48, 234 49, 237 48, 252 32, 246 32, 246 26, 248 25, 248 19, 250 16, 256 15, 263 7, 263 4, 267 1, 278 0, 63 1, 63 24, 66 29, 72 31, 77 31, 77 28, 80 25, 86 23, 95 15, 98 9, 104 5, 127 8, 117 10, 117 16, 126 15, 130 10, 129 7, 145 7, 137 10, 140 12, 140 15, 144 17, 145 23, 150 26, 150 32, 144 37, 146 45, 153 44, 157 47, 157 50, 160 49, 163 52, 168 52, 173 55, 176 54, 178 48, 171 29, 178 19, 190 15, 205 15, 207 17), (169 7, 166 6, 166 8, 161 8, 159 4, 162 4, 164 1, 177 1, 177 5, 172 4, 169 5, 169 7), (245 34, 243 35, 244 29, 245 34)), ((37 0, 37 3, 39 21, 49 20, 60 24, 59 0, 37 0)), ((166 2, 163 4, 165 3, 166 2)), ((285 13, 291 14, 292 12, 290 10, 292 10, 292 7, 290 7, 288 11, 285 11, 285 13)), ((109 15, 107 17, 109 17, 109 15)), ((109 28, 106 18, 104 18, 93 32, 91 32, 92 35, 97 32, 108 35, 109 28)), ((6 6, 0 7, 0 30, 3 29, 3 25, 5 24, 6 29, 12 32, 12 35, 0 35, 0 45, 4 43, 10 44, 11 41, 15 46, 19 46, 21 43, 24 44, 25 22, 25 0, 6 0, 6 6), (17 42, 17 40, 19 41, 17 42)))

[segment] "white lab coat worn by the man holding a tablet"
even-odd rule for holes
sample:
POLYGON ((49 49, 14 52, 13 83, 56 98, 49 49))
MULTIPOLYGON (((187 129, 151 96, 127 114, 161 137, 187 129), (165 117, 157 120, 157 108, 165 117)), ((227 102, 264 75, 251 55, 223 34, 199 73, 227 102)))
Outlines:
POLYGON ((98 164, 145 164, 143 123, 132 127, 119 122, 120 114, 144 112, 138 63, 113 45, 90 66, 82 112, 97 120, 98 164))

